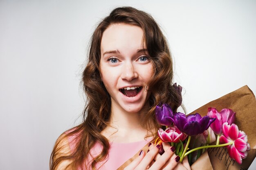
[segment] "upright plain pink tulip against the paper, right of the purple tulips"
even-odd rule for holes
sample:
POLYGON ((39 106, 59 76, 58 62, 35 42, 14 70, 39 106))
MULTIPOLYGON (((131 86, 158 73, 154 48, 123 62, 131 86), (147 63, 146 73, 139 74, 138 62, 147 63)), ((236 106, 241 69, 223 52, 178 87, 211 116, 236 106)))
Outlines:
POLYGON ((216 120, 211 124, 211 129, 217 134, 222 134, 222 124, 227 122, 228 124, 232 124, 235 122, 236 113, 231 109, 222 109, 220 112, 216 110, 214 107, 208 108, 207 115, 210 118, 216 118, 216 120))

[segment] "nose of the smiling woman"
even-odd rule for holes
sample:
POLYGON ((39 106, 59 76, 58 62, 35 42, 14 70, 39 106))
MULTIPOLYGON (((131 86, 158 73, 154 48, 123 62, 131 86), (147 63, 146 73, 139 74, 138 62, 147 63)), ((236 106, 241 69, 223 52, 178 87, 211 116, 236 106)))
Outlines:
POLYGON ((138 78, 136 67, 130 62, 125 63, 122 68, 121 78, 126 81, 132 81, 133 79, 138 78))

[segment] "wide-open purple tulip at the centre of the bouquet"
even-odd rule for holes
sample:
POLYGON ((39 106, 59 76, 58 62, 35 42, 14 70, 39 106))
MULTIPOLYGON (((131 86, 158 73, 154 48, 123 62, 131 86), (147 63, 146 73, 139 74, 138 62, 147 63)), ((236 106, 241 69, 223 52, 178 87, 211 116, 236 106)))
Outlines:
POLYGON ((174 113, 174 123, 180 131, 189 136, 198 135, 203 133, 209 128, 215 118, 209 116, 201 117, 200 114, 195 113, 186 116, 184 113, 174 113))

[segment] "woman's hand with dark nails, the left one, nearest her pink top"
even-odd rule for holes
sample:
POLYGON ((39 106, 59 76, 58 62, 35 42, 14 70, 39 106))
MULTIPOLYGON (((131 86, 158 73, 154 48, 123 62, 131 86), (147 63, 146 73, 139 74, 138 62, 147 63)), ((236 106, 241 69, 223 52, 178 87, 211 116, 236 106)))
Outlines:
POLYGON ((175 155, 171 149, 172 147, 165 147, 166 150, 163 155, 158 153, 159 148, 159 146, 150 145, 148 153, 142 150, 139 156, 124 170, 173 170, 177 165, 181 164, 179 163, 180 159, 177 161, 175 157, 172 157, 175 155))

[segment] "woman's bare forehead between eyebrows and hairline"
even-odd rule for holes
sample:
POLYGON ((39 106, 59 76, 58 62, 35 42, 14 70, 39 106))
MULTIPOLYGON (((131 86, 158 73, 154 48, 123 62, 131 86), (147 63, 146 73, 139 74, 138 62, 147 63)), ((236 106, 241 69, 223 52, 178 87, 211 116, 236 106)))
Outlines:
POLYGON ((112 24, 103 32, 101 54, 108 50, 137 50, 142 46, 143 34, 139 26, 112 24))

